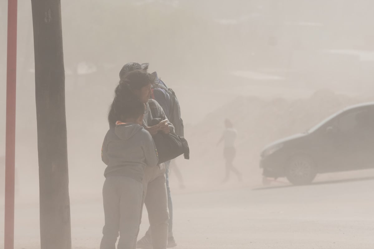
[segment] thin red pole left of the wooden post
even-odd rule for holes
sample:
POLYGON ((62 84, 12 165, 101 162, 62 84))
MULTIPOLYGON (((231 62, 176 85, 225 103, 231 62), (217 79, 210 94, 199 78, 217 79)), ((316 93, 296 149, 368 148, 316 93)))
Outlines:
POLYGON ((14 248, 14 174, 16 140, 17 0, 8 0, 5 138, 4 249, 14 248))

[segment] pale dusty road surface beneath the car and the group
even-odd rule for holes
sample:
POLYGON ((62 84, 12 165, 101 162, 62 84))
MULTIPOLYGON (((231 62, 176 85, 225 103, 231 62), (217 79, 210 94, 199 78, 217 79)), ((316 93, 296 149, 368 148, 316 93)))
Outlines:
MULTIPOLYGON (((373 249, 374 178, 174 194, 178 249, 373 249)), ((3 216, 3 205, 1 216, 3 216)), ((16 249, 39 246, 37 205, 16 206, 16 249)), ((148 222, 143 219, 141 234, 148 222)), ((3 247, 3 219, 0 247, 3 247)), ((73 248, 98 248, 100 198, 71 201, 73 248)))

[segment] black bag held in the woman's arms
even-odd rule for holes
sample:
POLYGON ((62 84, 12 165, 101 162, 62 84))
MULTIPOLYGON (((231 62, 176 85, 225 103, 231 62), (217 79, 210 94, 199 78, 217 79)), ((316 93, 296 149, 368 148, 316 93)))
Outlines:
MULTIPOLYGON (((160 121, 159 118, 153 119, 150 125, 157 125, 160 121)), ((177 136, 174 132, 169 134, 159 132, 152 137, 159 154, 159 164, 177 158, 182 154, 184 154, 185 159, 190 159, 190 149, 184 137, 177 136)))

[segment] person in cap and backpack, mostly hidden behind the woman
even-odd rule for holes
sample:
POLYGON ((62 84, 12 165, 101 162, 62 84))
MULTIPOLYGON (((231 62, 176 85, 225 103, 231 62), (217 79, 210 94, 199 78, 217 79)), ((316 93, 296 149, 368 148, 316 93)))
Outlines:
MULTIPOLYGON (((122 67, 120 72, 120 78, 123 77, 128 72, 133 70, 148 70, 149 63, 137 63, 137 62, 130 62, 125 64, 122 67)), ((178 136, 184 136, 184 126, 183 120, 181 119, 180 115, 180 106, 177 97, 175 96, 174 91, 171 88, 168 88, 166 84, 159 79, 156 72, 153 72, 151 75, 154 77, 154 85, 152 88, 151 98, 156 100, 157 103, 162 107, 166 117, 169 119, 171 124, 174 126, 174 132, 178 136), (175 125, 174 125, 175 124, 175 125)), ((168 248, 172 248, 177 246, 175 242, 174 235, 172 232, 173 227, 173 208, 172 208, 172 200, 171 200, 171 192, 169 187, 169 165, 170 161, 165 163, 166 166, 166 190, 168 196, 168 210, 169 210, 169 223, 168 223, 168 248)), ((148 208, 147 208, 148 210, 148 208)), ((137 248, 152 248, 152 234, 151 229, 148 228, 145 235, 138 241, 137 248)))

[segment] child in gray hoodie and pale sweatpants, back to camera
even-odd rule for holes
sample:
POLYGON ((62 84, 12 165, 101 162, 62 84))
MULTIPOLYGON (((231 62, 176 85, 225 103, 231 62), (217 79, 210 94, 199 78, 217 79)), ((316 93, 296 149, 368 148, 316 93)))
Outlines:
MULTIPOLYGON (((122 102, 118 100, 118 102, 122 102)), ((120 119, 102 144, 107 165, 102 190, 105 225, 100 249, 135 249, 143 199, 142 179, 147 165, 157 165, 152 136, 142 127, 145 105, 141 102, 113 104, 120 119)))

